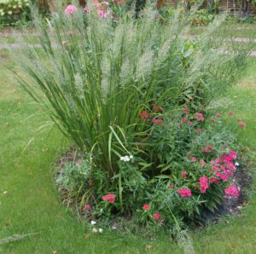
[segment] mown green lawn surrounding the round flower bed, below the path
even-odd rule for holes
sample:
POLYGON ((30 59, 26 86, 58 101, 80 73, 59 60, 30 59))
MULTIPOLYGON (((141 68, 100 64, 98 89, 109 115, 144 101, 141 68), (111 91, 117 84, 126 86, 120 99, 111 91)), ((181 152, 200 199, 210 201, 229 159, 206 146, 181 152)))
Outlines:
MULTIPOLYGON (((230 108, 247 123, 240 131, 243 144, 256 151, 256 62, 247 77, 230 91, 230 108)), ((54 188, 53 168, 67 147, 58 130, 44 132, 26 147, 48 118, 19 87, 5 64, 15 67, 0 51, 0 239, 13 234, 39 233, 0 245, 0 253, 183 253, 168 235, 150 241, 128 234, 92 234, 61 205, 54 188), (5 193, 7 192, 7 193, 5 193), (147 246, 148 245, 148 246, 147 246)), ((255 153, 254 153, 255 154, 255 153)), ((192 234, 196 253, 255 253, 256 197, 240 217, 192 234)))

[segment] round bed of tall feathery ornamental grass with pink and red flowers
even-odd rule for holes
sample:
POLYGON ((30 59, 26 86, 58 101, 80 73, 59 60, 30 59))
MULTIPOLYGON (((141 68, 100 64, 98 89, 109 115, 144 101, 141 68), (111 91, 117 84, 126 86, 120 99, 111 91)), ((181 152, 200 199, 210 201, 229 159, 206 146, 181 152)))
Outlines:
POLYGON ((178 11, 165 24, 150 6, 135 16, 117 20, 105 2, 69 5, 47 25, 35 13, 40 47, 24 45, 20 84, 83 154, 58 181, 82 216, 183 227, 231 193, 235 138, 207 118, 246 53, 212 39, 224 17, 191 39, 178 11))

